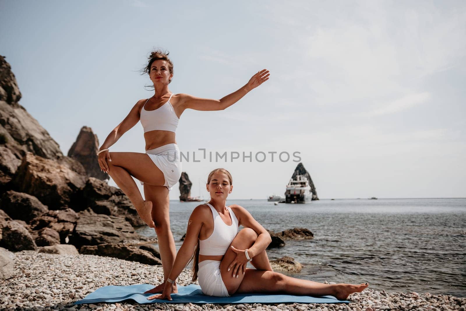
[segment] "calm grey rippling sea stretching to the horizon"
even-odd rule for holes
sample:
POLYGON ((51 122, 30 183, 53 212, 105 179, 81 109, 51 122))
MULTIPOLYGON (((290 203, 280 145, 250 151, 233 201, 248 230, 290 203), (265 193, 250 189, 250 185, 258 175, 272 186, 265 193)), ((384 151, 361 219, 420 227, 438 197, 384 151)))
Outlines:
MULTIPOLYGON (((199 202, 170 201, 177 250, 199 202)), ((228 200, 245 207, 266 229, 308 228, 314 238, 267 251, 303 264, 290 276, 323 282, 370 283, 386 291, 466 297, 466 199, 348 199, 274 205, 228 200)), ((155 236, 153 229, 138 229, 155 236)))

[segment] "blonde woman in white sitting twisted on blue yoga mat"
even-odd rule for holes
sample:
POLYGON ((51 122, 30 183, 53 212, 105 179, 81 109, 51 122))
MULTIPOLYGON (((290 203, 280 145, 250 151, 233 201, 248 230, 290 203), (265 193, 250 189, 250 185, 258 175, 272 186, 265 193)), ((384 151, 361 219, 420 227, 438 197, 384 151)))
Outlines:
POLYGON ((194 282, 209 296, 230 296, 234 293, 287 293, 309 296, 335 296, 346 299, 361 292, 368 283, 324 284, 300 280, 274 272, 266 248, 272 241, 266 229, 239 205, 225 205, 233 190, 231 174, 223 168, 213 170, 207 178, 211 200, 192 212, 186 237, 171 268, 162 294, 148 299, 171 300, 171 284, 186 264, 193 260, 194 282), (238 226, 245 227, 238 232, 238 226), (246 264, 256 269, 246 269, 246 264))

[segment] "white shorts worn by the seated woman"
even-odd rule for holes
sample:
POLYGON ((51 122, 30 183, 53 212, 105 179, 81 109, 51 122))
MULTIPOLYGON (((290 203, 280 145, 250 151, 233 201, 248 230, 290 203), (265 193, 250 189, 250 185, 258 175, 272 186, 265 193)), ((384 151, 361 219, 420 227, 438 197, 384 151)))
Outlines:
POLYGON ((218 260, 203 260, 199 263, 198 281, 202 292, 207 296, 230 296, 223 283, 218 260))

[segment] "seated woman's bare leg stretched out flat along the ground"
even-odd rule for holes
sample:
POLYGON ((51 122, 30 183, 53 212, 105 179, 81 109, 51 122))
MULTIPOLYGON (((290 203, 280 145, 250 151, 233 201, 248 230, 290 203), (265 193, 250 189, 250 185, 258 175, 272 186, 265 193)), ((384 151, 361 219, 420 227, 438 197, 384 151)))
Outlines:
POLYGON ((361 292, 369 285, 324 284, 285 276, 278 272, 247 269, 237 293, 287 293, 292 295, 326 296, 344 300, 349 294, 361 292))

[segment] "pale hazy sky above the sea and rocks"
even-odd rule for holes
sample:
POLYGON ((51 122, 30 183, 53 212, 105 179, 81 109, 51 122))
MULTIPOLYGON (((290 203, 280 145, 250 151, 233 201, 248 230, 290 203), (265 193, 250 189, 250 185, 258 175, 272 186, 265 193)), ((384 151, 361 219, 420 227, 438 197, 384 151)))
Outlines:
MULTIPOLYGON (((102 145, 153 95, 138 72, 152 48, 170 52, 175 94, 219 99, 269 69, 225 111, 180 118, 183 171, 204 197, 217 167, 231 199, 283 194, 293 152, 320 198, 466 197, 465 38, 465 1, 0 0, 20 104, 64 154, 84 125, 102 145)), ((143 134, 138 123, 110 151, 144 152, 143 134)))

